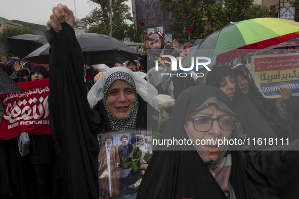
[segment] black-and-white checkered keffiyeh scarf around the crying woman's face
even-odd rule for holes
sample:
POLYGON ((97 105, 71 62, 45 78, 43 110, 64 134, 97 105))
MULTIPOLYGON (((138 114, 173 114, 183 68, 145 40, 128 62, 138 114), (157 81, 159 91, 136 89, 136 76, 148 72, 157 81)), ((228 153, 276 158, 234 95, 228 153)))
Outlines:
POLYGON ((113 130, 135 128, 136 127, 137 111, 138 111, 138 98, 137 98, 137 91, 136 91, 133 77, 125 72, 115 72, 115 73, 111 74, 105 82, 103 104, 104 104, 105 110, 108 115, 109 122, 110 122, 113 130), (108 108, 106 106, 107 92, 108 92, 110 86, 112 85, 112 83, 116 80, 122 80, 122 81, 129 83, 133 87, 134 92, 135 92, 134 105, 132 107, 132 110, 131 110, 129 116, 124 120, 117 119, 108 110, 108 108))

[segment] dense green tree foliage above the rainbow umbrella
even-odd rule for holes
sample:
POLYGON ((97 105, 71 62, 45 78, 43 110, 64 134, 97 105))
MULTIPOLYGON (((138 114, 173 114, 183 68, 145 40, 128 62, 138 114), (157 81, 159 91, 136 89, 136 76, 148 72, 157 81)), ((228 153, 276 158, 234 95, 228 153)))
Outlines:
MULTIPOLYGON (((274 17, 275 11, 269 7, 252 4, 253 0, 161 0, 164 12, 173 12, 170 27, 175 32, 173 38, 184 43, 189 37, 187 29, 195 32, 192 38, 204 38, 230 23, 259 17, 274 17)), ((190 42, 191 42, 190 39, 190 42)), ((192 43, 192 42, 191 42, 192 43)))

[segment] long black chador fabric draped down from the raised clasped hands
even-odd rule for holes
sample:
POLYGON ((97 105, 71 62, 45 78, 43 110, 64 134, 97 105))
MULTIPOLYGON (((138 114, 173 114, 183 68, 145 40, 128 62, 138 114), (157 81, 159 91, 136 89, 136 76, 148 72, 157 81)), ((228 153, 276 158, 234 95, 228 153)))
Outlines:
POLYGON ((74 30, 66 23, 62 27, 59 33, 51 29, 45 35, 51 44, 50 127, 63 198, 99 198, 99 148, 83 81, 82 52, 74 30))

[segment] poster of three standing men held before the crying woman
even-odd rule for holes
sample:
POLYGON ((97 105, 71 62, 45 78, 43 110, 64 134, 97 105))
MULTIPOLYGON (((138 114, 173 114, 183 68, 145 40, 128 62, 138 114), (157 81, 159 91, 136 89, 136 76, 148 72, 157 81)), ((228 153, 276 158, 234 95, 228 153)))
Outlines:
MULTIPOLYGON (((100 153, 98 156, 100 198, 136 198, 142 179, 141 170, 118 167, 122 157, 133 157, 136 147, 145 153, 152 153, 152 129, 136 128, 117 131, 103 131, 98 134, 100 153)), ((141 157, 142 158, 142 157, 141 157)), ((144 162, 141 161, 141 164, 144 162)))

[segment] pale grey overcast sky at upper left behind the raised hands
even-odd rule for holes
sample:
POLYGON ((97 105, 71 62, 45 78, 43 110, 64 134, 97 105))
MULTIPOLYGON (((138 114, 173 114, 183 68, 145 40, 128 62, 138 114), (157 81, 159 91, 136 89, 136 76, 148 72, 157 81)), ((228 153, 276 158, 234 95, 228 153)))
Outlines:
MULTIPOLYGON (((66 5, 75 15, 75 2, 79 19, 86 17, 94 8, 88 0, 3 0, 0 17, 46 25, 52 14, 52 8, 59 3, 66 5)), ((131 8, 131 0, 127 5, 131 8)))

